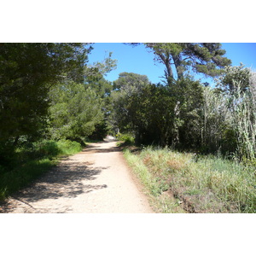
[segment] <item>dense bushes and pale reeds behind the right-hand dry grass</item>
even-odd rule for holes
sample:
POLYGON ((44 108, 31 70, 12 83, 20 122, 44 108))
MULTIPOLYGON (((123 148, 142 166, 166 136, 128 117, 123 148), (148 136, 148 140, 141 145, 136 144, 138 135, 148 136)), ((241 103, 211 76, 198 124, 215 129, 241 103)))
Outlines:
MULTIPOLYGON (((121 84, 122 76, 114 84, 121 84)), ((138 144, 253 162, 255 86, 255 73, 243 66, 225 67, 216 88, 188 76, 169 86, 126 83, 113 92, 113 109, 119 131, 133 133, 138 144)))

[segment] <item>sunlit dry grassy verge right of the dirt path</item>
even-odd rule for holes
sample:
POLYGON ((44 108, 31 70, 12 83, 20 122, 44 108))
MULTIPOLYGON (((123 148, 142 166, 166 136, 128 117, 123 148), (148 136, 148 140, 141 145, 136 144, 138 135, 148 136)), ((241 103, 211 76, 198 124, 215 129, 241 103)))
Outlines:
POLYGON ((125 150, 125 158, 160 212, 179 212, 177 204, 186 212, 256 212, 252 166, 168 148, 125 150))

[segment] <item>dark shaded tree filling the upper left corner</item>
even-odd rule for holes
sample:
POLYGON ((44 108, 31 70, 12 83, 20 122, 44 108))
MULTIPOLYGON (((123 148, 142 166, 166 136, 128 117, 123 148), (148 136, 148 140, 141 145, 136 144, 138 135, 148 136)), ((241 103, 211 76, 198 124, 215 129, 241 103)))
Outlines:
POLYGON ((0 44, 0 143, 15 145, 21 135, 38 135, 46 124, 49 88, 83 79, 87 46, 0 44))

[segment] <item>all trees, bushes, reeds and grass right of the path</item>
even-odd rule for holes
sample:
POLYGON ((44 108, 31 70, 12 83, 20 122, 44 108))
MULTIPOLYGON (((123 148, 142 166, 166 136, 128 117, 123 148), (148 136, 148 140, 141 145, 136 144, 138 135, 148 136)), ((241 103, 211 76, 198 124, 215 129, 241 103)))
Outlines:
POLYGON ((166 83, 121 73, 113 105, 121 146, 134 140, 143 148, 130 146, 125 157, 154 205, 162 201, 160 212, 178 212, 177 204, 186 212, 256 212, 256 73, 232 67, 218 44, 146 47, 166 66, 166 83), (191 68, 215 86, 195 80, 191 68))

